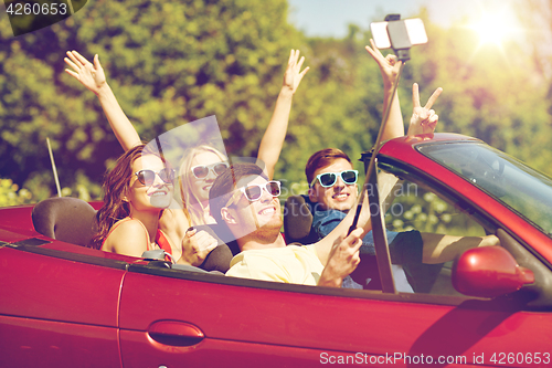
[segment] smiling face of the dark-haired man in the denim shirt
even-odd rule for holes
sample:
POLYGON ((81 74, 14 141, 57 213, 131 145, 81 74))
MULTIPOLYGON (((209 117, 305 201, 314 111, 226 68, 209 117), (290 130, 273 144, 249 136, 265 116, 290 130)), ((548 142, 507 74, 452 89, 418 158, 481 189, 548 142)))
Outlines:
MULTIPOLYGON (((320 174, 341 172, 343 170, 352 170, 352 165, 344 158, 338 158, 330 166, 319 168, 315 171, 316 178, 320 174)), ((357 185, 346 185, 340 177, 332 187, 323 188, 316 180, 312 188, 309 189, 309 199, 312 202, 318 202, 323 210, 349 211, 357 201, 358 187, 357 185)))

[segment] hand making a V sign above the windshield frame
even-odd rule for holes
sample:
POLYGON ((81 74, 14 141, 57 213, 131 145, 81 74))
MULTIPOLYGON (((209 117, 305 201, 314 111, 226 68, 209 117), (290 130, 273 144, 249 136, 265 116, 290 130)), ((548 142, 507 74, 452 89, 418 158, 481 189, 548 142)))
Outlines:
POLYGON ((407 136, 416 136, 418 134, 433 134, 435 127, 437 126, 438 115, 435 111, 431 109, 433 104, 437 101, 438 96, 443 92, 442 87, 435 90, 432 94, 427 104, 424 107, 420 104, 420 92, 417 83, 412 85, 412 104, 414 106, 412 111, 411 123, 408 126, 407 136))

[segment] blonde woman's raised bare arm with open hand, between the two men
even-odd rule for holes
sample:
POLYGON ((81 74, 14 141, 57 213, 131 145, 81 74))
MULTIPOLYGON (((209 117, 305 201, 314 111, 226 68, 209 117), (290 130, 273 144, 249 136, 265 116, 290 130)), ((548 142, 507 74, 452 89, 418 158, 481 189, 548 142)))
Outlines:
POLYGON ((294 94, 309 70, 307 66, 301 72, 305 56, 297 61, 298 59, 299 50, 291 50, 284 74, 284 84, 276 99, 276 106, 268 127, 258 147, 258 158, 266 165, 266 174, 269 179, 274 177, 274 170, 284 146, 294 94))

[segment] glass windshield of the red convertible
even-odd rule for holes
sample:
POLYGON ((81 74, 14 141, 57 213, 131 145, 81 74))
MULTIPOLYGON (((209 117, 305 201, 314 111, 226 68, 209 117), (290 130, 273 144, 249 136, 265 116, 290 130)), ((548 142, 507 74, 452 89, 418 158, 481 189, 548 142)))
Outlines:
POLYGON ((429 144, 417 149, 552 235, 551 178, 482 143, 429 144))

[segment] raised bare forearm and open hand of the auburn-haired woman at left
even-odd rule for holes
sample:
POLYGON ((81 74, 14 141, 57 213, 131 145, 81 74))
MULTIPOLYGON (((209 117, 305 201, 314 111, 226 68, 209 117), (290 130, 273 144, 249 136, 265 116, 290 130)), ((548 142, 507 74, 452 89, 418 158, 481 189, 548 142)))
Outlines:
POLYGON ((65 72, 96 94, 123 149, 126 151, 139 145, 141 140, 138 133, 123 112, 123 108, 120 108, 117 98, 115 98, 112 88, 106 82, 104 69, 99 64, 99 56, 97 54, 94 56, 94 64, 76 51, 67 51, 67 56, 64 61, 73 70, 66 69, 65 72))

